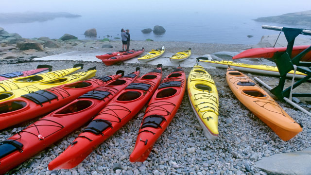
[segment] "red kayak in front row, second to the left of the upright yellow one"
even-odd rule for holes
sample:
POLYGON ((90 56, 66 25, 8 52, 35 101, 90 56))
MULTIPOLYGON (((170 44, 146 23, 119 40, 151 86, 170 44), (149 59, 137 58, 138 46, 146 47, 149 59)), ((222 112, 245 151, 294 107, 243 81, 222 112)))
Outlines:
POLYGON ((162 68, 143 75, 127 86, 49 163, 49 170, 70 169, 81 163, 98 145, 128 123, 148 102, 161 81, 162 68))

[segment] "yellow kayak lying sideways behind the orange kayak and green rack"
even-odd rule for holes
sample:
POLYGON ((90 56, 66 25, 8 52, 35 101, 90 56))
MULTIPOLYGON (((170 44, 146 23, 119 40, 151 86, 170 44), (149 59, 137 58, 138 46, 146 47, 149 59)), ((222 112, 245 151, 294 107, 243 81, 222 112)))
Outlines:
MULTIPOLYGON (((235 70, 280 76, 276 66, 249 65, 249 64, 236 63, 236 62, 226 61, 226 60, 222 60, 222 61, 205 60, 205 59, 208 59, 205 57, 199 57, 197 59, 199 59, 202 64, 207 65, 207 66, 213 66, 213 67, 224 68, 224 69, 227 69, 228 66, 230 66, 230 68, 233 68, 235 70)), ((294 75, 294 71, 292 70, 288 72, 286 76, 293 78, 293 75, 294 75)), ((295 78, 304 78, 305 76, 306 74, 296 71, 295 78)))

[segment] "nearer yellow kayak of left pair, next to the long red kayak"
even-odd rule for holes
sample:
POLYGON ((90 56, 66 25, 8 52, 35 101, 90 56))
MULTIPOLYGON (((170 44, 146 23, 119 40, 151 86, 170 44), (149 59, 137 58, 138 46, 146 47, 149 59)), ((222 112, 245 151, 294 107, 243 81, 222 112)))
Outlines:
POLYGON ((94 67, 84 72, 77 72, 72 75, 56 78, 50 81, 46 81, 46 82, 42 82, 42 83, 38 83, 34 85, 29 85, 23 88, 15 89, 15 90, 0 92, 0 102, 11 100, 11 99, 20 97, 21 95, 35 92, 37 90, 52 88, 52 87, 56 87, 59 85, 86 80, 86 79, 89 79, 95 76, 95 73, 96 73, 96 69, 94 67))

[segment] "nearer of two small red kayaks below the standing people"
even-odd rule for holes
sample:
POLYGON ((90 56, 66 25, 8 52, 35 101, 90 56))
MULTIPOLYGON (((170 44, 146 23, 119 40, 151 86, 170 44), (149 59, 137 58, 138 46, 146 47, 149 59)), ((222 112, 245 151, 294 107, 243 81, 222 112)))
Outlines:
POLYGON ((125 61, 128 60, 130 58, 134 58, 138 55, 140 55, 141 53, 143 53, 145 51, 144 48, 142 48, 141 50, 138 51, 127 51, 126 53, 123 53, 121 55, 117 55, 117 56, 113 56, 107 59, 103 59, 103 63, 107 66, 113 65, 115 63, 121 62, 121 61, 125 61))

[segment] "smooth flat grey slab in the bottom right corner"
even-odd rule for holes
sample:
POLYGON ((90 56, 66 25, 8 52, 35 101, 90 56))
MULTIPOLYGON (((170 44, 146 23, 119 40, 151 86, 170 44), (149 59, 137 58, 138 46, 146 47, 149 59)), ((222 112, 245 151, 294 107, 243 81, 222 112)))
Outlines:
POLYGON ((311 147, 262 157, 256 162, 256 166, 273 175, 311 175, 311 147))

